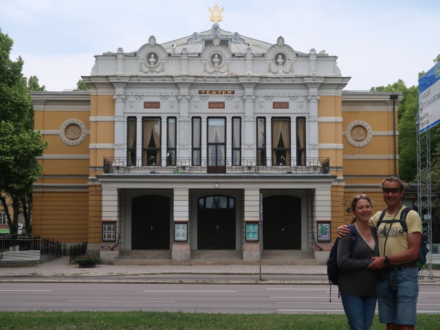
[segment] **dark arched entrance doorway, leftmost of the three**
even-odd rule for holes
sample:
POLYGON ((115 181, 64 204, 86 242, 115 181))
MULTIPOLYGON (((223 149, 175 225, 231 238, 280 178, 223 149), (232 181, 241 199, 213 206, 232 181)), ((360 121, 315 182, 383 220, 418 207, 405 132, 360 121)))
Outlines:
POLYGON ((169 250, 170 199, 156 195, 131 201, 131 249, 169 250))

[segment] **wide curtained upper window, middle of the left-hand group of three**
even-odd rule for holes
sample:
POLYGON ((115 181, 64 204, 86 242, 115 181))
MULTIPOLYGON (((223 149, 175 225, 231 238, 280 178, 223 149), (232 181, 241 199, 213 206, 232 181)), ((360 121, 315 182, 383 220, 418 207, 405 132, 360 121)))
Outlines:
POLYGON ((142 166, 160 164, 160 119, 142 118, 142 166))

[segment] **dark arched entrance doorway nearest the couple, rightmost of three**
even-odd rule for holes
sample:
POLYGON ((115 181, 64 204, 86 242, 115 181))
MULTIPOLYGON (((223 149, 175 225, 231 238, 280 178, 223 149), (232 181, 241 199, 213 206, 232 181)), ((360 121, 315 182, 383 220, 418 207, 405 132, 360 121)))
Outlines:
POLYGON ((271 196, 263 199, 264 250, 301 249, 301 199, 271 196))

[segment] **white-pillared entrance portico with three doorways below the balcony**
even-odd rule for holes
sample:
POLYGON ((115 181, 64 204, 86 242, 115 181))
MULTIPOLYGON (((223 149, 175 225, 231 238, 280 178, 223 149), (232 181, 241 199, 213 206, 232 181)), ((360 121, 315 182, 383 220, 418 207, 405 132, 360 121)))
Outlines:
POLYGON ((263 250, 313 250, 316 221, 329 217, 316 212, 330 200, 327 175, 169 176, 98 177, 103 221, 116 220, 120 250, 171 250, 175 262, 189 262, 192 250, 241 250, 243 261, 257 261, 261 237, 263 250), (259 221, 260 193, 263 232, 255 239, 246 224, 259 221))

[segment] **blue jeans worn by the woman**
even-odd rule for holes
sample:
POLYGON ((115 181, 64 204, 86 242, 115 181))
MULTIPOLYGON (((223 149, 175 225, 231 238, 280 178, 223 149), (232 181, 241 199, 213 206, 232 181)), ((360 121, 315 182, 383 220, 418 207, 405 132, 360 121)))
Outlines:
POLYGON ((373 323, 376 297, 341 294, 342 306, 349 319, 350 330, 369 330, 373 323))

